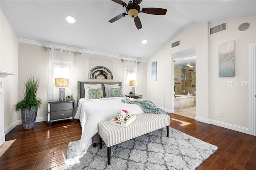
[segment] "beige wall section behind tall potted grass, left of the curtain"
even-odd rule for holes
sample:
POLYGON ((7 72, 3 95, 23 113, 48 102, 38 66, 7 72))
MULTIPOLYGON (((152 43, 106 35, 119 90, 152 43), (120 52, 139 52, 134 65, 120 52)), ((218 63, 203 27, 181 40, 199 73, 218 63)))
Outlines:
MULTIPOLYGON (((49 67, 48 51, 44 51, 38 45, 28 45, 19 43, 19 62, 18 62, 18 96, 24 97, 24 82, 28 75, 39 75, 41 83, 38 89, 37 97, 42 99, 42 106, 38 109, 37 120, 47 115, 47 87, 48 87, 48 67, 49 67)), ((18 120, 21 120, 20 114, 18 120)))

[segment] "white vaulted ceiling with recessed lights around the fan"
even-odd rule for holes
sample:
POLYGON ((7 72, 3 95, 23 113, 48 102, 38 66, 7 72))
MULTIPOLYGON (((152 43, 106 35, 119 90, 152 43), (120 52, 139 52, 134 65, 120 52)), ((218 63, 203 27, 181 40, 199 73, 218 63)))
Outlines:
MULTIPOLYGON (((123 0, 128 3, 128 0, 123 0)), ((148 60, 184 29, 201 22, 256 15, 255 0, 143 0, 140 8, 165 8, 165 16, 139 13, 142 29, 111 0, 1 0, 18 38, 148 60), (71 15, 76 22, 66 22, 71 15), (148 43, 142 44, 147 39, 148 43)))

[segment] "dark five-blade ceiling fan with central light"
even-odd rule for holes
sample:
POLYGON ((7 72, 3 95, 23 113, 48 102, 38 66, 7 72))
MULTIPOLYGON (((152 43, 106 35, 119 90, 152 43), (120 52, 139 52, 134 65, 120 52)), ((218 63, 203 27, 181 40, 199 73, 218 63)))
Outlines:
POLYGON ((134 23, 137 27, 137 29, 139 30, 140 28, 142 28, 141 22, 140 22, 140 18, 138 17, 139 12, 143 12, 146 14, 153 14, 153 15, 165 15, 167 10, 166 9, 162 9, 162 8, 142 8, 142 10, 140 11, 140 2, 142 2, 142 0, 130 0, 128 2, 128 4, 126 4, 125 2, 123 2, 122 0, 112 0, 120 5, 122 5, 123 7, 126 8, 126 12, 112 18, 111 20, 109 20, 108 22, 115 22, 117 20, 119 20, 120 18, 123 18, 124 16, 128 15, 132 18, 134 18, 134 23))

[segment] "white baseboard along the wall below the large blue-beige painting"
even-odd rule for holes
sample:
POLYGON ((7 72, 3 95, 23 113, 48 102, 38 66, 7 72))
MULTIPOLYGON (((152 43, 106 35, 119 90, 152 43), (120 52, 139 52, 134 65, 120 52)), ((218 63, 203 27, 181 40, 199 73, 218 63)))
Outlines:
POLYGON ((205 119, 205 118, 197 117, 197 116, 196 116, 196 121, 216 125, 216 126, 219 126, 219 127, 228 128, 228 129, 231 129, 231 130, 236 130, 238 132, 242 132, 242 133, 246 133, 246 134, 251 134, 249 128, 240 127, 240 126, 232 125, 232 124, 229 124, 229 123, 224 123, 224 122, 215 121, 215 120, 211 120, 211 119, 205 119))

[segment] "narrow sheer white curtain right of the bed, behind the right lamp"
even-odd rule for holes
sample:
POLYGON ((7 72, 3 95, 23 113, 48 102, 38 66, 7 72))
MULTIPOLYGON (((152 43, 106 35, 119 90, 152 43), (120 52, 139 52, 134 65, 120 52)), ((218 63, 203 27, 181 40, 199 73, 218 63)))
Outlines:
POLYGON ((128 95, 132 91, 132 87, 129 86, 130 80, 137 80, 137 62, 134 61, 124 62, 123 95, 128 95))

